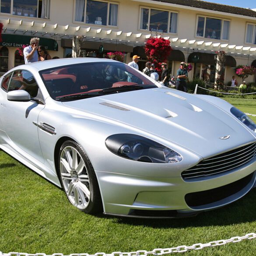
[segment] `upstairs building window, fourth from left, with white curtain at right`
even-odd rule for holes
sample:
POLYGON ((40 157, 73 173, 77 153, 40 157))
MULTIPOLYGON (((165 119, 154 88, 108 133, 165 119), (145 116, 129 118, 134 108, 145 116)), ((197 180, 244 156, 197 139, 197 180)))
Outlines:
POLYGON ((196 36, 228 40, 230 21, 198 16, 196 36))

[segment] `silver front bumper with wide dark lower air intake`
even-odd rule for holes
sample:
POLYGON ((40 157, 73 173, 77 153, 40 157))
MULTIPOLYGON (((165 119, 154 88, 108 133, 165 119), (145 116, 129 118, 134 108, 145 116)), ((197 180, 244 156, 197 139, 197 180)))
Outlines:
POLYGON ((255 171, 256 158, 232 172, 195 182, 95 172, 105 214, 161 218, 190 217, 232 203, 255 186, 255 171))

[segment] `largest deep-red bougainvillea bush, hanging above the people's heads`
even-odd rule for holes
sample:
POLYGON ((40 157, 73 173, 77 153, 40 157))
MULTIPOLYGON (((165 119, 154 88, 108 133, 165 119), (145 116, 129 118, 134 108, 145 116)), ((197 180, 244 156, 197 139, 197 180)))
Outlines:
POLYGON ((166 62, 172 51, 170 41, 164 38, 151 37, 144 47, 147 60, 155 64, 157 71, 161 70, 161 63, 166 62))

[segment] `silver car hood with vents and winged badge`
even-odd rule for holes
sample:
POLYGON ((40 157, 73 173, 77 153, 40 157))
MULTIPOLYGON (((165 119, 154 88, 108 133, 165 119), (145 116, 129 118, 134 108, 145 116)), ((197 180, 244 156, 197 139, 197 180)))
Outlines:
POLYGON ((151 133, 204 158, 255 140, 231 114, 195 95, 168 88, 128 91, 63 104, 125 123, 131 129, 151 133), (230 137, 223 139, 225 136, 230 137))

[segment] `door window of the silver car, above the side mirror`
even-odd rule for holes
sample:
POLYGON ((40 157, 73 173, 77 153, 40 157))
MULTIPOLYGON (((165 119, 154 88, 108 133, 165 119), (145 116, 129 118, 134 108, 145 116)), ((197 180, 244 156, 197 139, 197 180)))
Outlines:
POLYGON ((25 90, 32 98, 36 97, 39 88, 33 75, 26 70, 16 70, 8 84, 7 91, 25 90))

